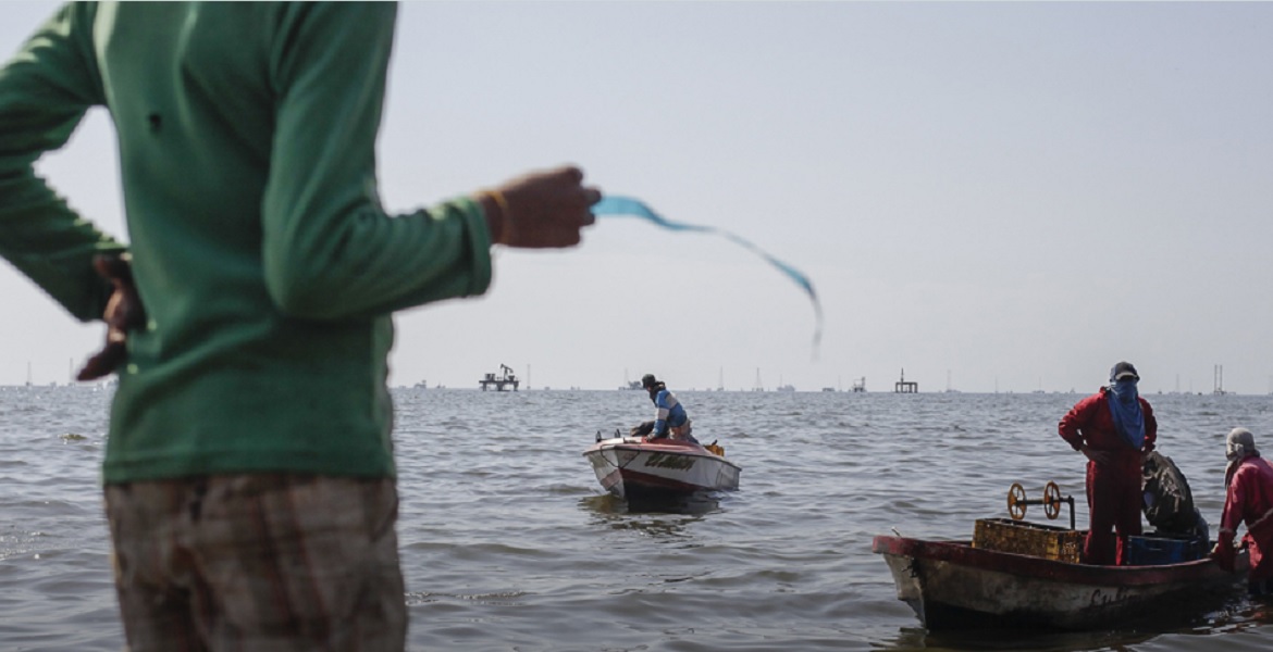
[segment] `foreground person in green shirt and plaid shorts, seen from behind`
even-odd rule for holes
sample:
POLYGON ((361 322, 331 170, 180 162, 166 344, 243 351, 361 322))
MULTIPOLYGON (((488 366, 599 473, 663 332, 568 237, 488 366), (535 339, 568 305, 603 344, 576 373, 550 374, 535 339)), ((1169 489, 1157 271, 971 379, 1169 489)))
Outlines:
POLYGON ((75 3, 0 69, 0 255, 125 351, 103 477, 134 651, 401 649, 391 315, 485 292, 493 244, 572 247, 593 222, 569 166, 384 212, 395 18, 75 3), (129 244, 32 168, 95 105, 129 244), (127 254, 113 283, 103 254, 127 254))

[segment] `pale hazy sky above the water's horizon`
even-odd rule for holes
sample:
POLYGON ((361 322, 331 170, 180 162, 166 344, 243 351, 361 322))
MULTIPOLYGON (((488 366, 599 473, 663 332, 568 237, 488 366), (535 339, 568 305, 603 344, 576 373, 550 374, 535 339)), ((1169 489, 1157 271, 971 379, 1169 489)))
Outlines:
MULTIPOLYGON (((5 3, 8 56, 52 3, 5 3)), ((602 219, 397 316, 392 384, 1273 391, 1273 4, 409 3, 379 141, 409 210, 561 163, 602 219)), ((104 111, 39 164, 126 238, 104 111)), ((0 384, 101 342, 0 268, 0 384)))

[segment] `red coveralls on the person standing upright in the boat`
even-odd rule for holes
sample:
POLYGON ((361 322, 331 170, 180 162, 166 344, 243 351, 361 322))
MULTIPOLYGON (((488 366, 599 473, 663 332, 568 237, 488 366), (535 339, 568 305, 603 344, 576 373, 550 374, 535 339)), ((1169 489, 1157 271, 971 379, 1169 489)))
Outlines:
POLYGON ((1143 398, 1144 445, 1136 450, 1114 430, 1106 388, 1074 404, 1060 419, 1058 431, 1074 450, 1083 444, 1110 456, 1108 464, 1087 461, 1087 510, 1090 527, 1083 540, 1083 560, 1108 566, 1127 563, 1124 538, 1141 534, 1141 466, 1144 452, 1153 450, 1158 438, 1158 422, 1153 408, 1143 398), (1115 539, 1110 529, 1118 530, 1115 539), (1114 544, 1114 540, 1118 543, 1114 544), (1116 553, 1115 553, 1116 549, 1116 553), (1115 554, 1111 554, 1115 553, 1115 554))

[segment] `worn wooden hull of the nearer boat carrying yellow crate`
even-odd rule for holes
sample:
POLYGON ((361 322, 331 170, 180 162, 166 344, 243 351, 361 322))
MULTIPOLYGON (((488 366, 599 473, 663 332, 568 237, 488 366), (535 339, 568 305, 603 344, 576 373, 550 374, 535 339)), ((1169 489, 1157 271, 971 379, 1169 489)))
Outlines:
POLYGON ((1211 559, 1169 566, 1086 566, 973 548, 966 541, 876 536, 909 604, 932 630, 1104 629, 1158 610, 1216 602, 1244 583, 1211 559))

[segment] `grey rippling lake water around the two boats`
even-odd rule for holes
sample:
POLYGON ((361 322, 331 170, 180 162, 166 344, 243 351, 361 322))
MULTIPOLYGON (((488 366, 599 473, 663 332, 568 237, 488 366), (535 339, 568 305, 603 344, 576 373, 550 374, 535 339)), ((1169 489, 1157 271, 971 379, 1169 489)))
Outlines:
MULTIPOLYGON (((896 600, 873 535, 967 539, 1007 516, 1015 482, 1030 498, 1058 483, 1086 526, 1083 458, 1057 436, 1080 394, 679 395, 741 488, 653 512, 603 494, 580 455, 649 418, 644 393, 395 390, 409 648, 1273 647, 1273 608, 1240 592, 1194 620, 1083 634, 928 634, 896 600)), ((1223 437, 1273 442, 1273 397, 1146 398, 1214 533, 1223 437)), ((108 400, 0 389, 0 651, 123 647, 98 488, 108 400)))

